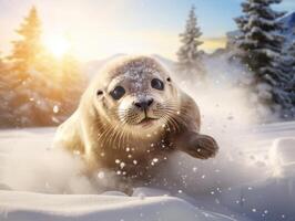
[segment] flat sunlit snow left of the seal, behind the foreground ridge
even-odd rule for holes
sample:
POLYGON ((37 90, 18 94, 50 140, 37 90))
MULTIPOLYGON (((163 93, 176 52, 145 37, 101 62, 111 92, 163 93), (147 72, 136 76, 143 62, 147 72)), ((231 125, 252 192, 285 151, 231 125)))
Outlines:
POLYGON ((89 179, 80 173, 83 165, 79 158, 50 148, 53 130, 48 128, 0 133, 0 189, 95 192, 89 179))

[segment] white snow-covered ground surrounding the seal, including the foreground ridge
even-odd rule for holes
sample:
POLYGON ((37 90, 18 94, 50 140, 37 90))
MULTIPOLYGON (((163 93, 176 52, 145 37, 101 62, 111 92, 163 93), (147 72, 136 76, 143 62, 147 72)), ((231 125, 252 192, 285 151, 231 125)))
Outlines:
MULTIPOLYGON (((52 154, 49 149, 53 134, 54 128, 0 131, 1 221, 295 219, 295 123, 253 128, 253 134, 260 135, 260 139, 255 140, 255 148, 247 149, 246 155, 250 158, 255 156, 266 159, 254 161, 271 171, 267 178, 231 182, 227 188, 217 182, 221 188, 215 186, 216 189, 210 192, 192 191, 190 181, 186 186, 187 192, 185 187, 176 192, 170 191, 169 188, 136 188, 131 197, 115 191, 93 193, 89 181, 75 173, 80 164, 78 159, 71 159, 64 152, 52 154)), ((242 134, 240 138, 235 138, 237 139, 252 138, 248 134, 242 134)), ((177 156, 177 159, 181 157, 177 156)), ((199 166, 195 170, 197 169, 202 170, 202 167, 199 166)), ((234 179, 236 171, 238 168, 228 168, 221 169, 220 173, 227 179, 231 176, 234 179), (233 175, 228 175, 231 169, 233 175)), ((244 172, 242 167, 241 172, 244 172)), ((205 179, 197 178, 197 173, 190 173, 196 177, 194 180, 205 179)), ((192 182, 195 189, 199 185, 202 186, 192 182)))

